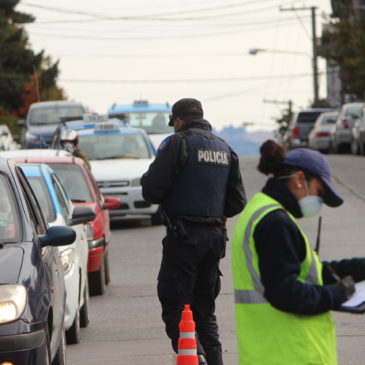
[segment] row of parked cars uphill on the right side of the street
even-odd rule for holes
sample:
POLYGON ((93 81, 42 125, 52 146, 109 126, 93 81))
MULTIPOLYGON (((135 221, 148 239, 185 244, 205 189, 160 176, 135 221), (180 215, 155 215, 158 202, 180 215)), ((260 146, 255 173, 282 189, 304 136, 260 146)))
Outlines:
POLYGON ((345 103, 338 110, 314 108, 298 111, 280 139, 288 149, 309 147, 323 153, 364 155, 364 103, 345 103))

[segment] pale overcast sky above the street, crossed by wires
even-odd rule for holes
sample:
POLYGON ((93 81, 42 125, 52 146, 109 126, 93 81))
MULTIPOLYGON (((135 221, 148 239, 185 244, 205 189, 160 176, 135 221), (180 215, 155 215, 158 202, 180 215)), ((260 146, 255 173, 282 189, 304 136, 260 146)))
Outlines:
POLYGON ((195 97, 217 129, 254 130, 273 129, 285 107, 264 100, 298 109, 313 99, 310 10, 280 11, 311 6, 319 35, 330 0, 21 0, 17 10, 36 17, 31 46, 59 60, 68 98, 92 111, 195 97))

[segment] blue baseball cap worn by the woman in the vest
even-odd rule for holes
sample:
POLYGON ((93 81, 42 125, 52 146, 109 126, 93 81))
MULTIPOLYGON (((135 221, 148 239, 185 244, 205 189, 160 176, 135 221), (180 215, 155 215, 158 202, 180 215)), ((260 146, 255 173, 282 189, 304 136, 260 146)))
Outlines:
POLYGON ((330 166, 320 152, 308 148, 296 148, 285 155, 283 164, 304 169, 320 178, 326 185, 323 196, 326 205, 338 207, 343 203, 343 199, 331 183, 330 166))

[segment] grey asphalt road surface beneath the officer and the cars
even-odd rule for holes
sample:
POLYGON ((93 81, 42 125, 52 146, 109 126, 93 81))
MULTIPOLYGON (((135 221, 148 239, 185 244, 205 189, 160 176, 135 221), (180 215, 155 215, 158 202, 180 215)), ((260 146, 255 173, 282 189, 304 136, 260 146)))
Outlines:
MULTIPOLYGON (((333 181, 345 203, 324 207, 321 216, 320 257, 336 260, 365 257, 365 157, 328 156, 333 181)), ((242 157, 241 169, 250 197, 266 177, 256 171, 257 157, 242 157)), ((230 219, 229 232, 236 219, 230 219)), ((302 219, 311 241, 316 240, 318 218, 302 219)), ((161 259, 163 227, 149 220, 123 219, 112 224, 111 283, 106 293, 90 298, 90 325, 81 342, 67 347, 69 365, 171 365, 175 364, 160 318, 156 277, 161 259)), ((217 318, 226 365, 235 365, 236 339, 230 252, 222 260, 222 291, 217 318)), ((338 357, 341 365, 365 364, 365 317, 334 312, 338 357)))

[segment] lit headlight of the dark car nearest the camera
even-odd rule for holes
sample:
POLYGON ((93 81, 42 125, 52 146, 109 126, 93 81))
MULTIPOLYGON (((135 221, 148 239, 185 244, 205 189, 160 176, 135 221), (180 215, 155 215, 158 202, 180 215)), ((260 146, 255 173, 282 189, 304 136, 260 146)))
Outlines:
POLYGON ((0 323, 12 322, 24 312, 27 291, 23 285, 0 285, 0 323))

